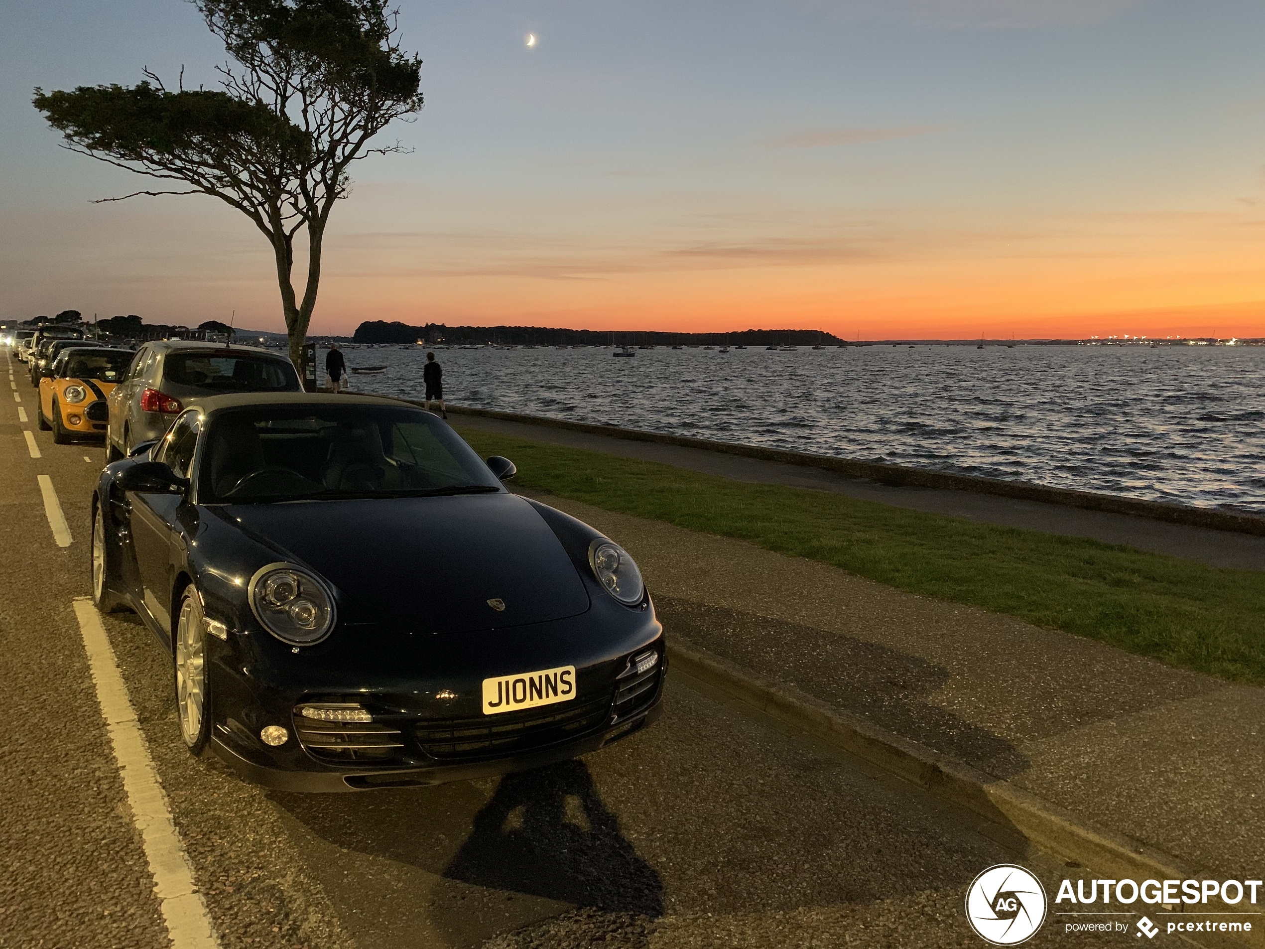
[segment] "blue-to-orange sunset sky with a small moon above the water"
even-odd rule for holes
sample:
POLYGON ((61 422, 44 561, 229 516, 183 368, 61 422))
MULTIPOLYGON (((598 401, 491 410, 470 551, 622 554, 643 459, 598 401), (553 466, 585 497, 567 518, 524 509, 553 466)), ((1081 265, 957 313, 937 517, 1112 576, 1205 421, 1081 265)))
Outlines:
MULTIPOLYGON (((282 328, 205 197, 57 148, 33 86, 213 82, 178 0, 5 14, 0 315, 282 328)), ((1265 5, 405 3, 428 104, 355 168, 311 332, 1265 335, 1265 5), (534 32, 539 43, 528 48, 534 32)))

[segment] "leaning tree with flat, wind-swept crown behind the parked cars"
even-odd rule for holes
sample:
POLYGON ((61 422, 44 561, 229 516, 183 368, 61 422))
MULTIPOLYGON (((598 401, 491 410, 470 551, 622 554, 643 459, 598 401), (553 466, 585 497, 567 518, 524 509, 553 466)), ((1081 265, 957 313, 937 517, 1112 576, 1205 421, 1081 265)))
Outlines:
POLYGON ((334 202, 347 197, 352 162, 404 151, 371 142, 421 109, 421 61, 400 46, 386 0, 192 0, 231 59, 220 89, 175 91, 148 68, 135 86, 35 90, 34 105, 66 148, 110 164, 183 182, 237 208, 272 244, 277 285, 299 366, 316 306, 321 248, 334 202), (307 240, 302 299, 295 238, 307 240))

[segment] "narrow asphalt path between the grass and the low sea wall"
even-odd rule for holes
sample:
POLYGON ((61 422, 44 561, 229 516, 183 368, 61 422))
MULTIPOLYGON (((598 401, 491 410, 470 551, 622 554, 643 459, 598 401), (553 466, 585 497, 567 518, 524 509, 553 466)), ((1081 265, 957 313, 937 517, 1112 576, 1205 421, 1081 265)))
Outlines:
POLYGON ((1140 550, 1202 561, 1213 567, 1265 569, 1265 537, 1251 534, 1166 524, 1128 514, 1090 511, 972 491, 880 485, 865 478, 850 478, 824 468, 744 458, 722 452, 707 452, 701 448, 664 445, 657 442, 632 442, 548 425, 529 425, 509 419, 463 414, 459 418, 454 415, 453 423, 457 428, 486 429, 625 458, 643 458, 707 475, 721 475, 735 481, 831 491, 864 501, 888 504, 893 507, 910 507, 1007 528, 1083 537, 1107 544, 1123 544, 1140 550))

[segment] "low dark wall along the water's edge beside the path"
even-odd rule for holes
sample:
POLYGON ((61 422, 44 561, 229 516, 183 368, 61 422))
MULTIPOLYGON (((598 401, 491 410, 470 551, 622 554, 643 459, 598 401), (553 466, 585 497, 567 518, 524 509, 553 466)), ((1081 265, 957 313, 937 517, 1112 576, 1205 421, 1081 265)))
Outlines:
MULTIPOLYGON (((420 405, 420 402, 417 404, 420 405)), ((1107 511, 1111 514, 1130 514, 1137 518, 1149 518, 1151 520, 1161 520, 1170 524, 1187 524, 1195 528, 1233 530, 1240 534, 1265 537, 1265 518, 1254 516, 1246 512, 1225 511, 1211 507, 1184 507, 1182 505, 1163 504, 1160 501, 1144 501, 1135 497, 1099 495, 1092 491, 1069 491, 1066 488, 1031 485, 1025 481, 1003 481, 1001 478, 982 478, 974 475, 953 475, 944 471, 908 468, 883 462, 864 462, 851 458, 832 458, 824 454, 808 454, 806 452, 787 452, 778 448, 743 445, 734 442, 711 442, 708 439, 691 438, 687 435, 667 435, 658 431, 622 429, 614 425, 591 425, 588 423, 567 421, 564 419, 550 419, 539 415, 522 415, 520 412, 506 412, 496 409, 474 409, 464 405, 449 405, 448 411, 458 415, 479 415, 488 419, 505 419, 506 421, 519 421, 528 425, 565 429, 568 431, 584 431, 592 435, 606 435, 608 438, 619 438, 627 442, 655 442, 658 444, 697 448, 706 452, 721 452, 724 454, 759 458, 762 461, 781 462, 783 464, 799 464, 810 468, 822 468, 846 477, 867 478, 883 485, 906 485, 912 487, 930 487, 947 491, 973 491, 982 495, 1016 497, 1025 501, 1044 501, 1045 504, 1056 504, 1064 507, 1083 507, 1085 510, 1107 511)))

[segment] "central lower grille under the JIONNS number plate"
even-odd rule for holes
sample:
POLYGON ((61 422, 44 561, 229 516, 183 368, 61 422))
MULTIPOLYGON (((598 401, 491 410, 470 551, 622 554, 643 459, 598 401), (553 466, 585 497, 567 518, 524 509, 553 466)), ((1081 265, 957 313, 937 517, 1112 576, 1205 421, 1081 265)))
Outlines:
POLYGON ((578 738, 606 723, 611 697, 583 705, 546 705, 522 712, 478 719, 417 723, 415 735, 421 749, 439 760, 486 758, 534 750, 578 738))

